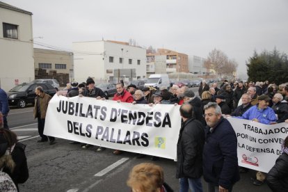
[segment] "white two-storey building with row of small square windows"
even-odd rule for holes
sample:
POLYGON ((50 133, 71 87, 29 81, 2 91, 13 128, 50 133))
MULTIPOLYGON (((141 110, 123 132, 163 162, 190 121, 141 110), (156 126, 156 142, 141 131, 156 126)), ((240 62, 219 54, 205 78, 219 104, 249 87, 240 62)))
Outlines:
POLYGON ((73 42, 74 79, 87 77, 99 82, 118 82, 146 77, 146 49, 128 42, 89 41, 73 42))

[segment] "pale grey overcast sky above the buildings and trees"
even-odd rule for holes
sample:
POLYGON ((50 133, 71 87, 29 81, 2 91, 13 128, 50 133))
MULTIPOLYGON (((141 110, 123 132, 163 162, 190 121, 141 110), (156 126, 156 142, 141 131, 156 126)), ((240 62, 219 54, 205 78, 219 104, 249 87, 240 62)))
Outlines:
POLYGON ((204 58, 216 48, 239 63, 239 74, 254 50, 288 54, 287 0, 0 1, 33 13, 38 42, 65 49, 102 37, 204 58))

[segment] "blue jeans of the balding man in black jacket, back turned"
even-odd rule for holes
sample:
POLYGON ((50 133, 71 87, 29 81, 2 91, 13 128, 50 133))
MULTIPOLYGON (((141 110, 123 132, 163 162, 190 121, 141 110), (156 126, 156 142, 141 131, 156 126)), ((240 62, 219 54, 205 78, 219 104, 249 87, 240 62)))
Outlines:
POLYGON ((202 192, 201 178, 192 179, 187 177, 182 177, 180 180, 180 192, 188 192, 189 188, 193 192, 202 192))

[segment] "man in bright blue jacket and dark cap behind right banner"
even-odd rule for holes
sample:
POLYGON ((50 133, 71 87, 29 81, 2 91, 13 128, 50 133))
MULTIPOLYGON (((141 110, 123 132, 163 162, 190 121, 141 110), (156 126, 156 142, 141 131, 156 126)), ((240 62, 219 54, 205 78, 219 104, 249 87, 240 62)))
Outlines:
POLYGON ((260 95, 257 105, 250 107, 242 116, 236 118, 253 120, 266 125, 275 124, 277 117, 273 109, 269 107, 269 101, 268 95, 260 95))

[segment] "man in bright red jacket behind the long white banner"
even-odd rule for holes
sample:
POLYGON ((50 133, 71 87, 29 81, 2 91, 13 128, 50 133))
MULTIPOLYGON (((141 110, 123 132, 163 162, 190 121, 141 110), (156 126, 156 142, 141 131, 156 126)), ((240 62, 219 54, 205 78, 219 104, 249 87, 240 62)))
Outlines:
MULTIPOLYGON (((114 95, 114 97, 112 99, 113 101, 125 102, 125 103, 134 102, 133 96, 131 95, 131 93, 129 93, 127 90, 125 90, 122 83, 117 83, 116 89, 117 89, 117 93, 114 95)), ((115 150, 113 152, 113 154, 122 154, 122 151, 115 150)))

